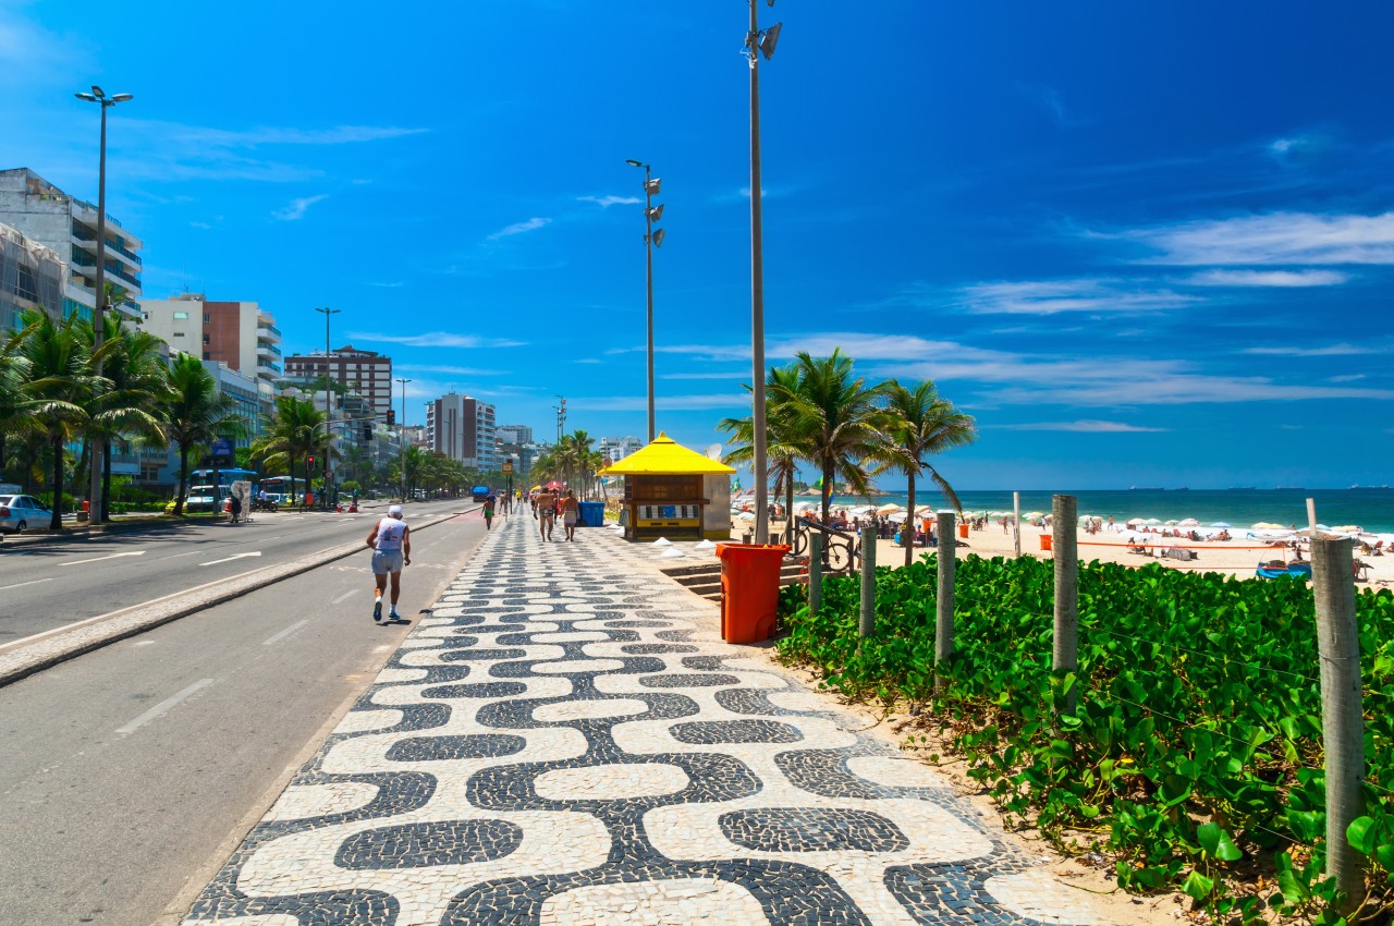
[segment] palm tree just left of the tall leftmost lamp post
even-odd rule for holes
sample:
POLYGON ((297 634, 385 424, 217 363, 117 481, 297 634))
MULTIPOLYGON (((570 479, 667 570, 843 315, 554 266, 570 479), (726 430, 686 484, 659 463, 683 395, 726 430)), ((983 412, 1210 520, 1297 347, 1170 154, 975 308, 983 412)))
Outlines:
POLYGON ((45 435, 53 452, 53 519, 49 530, 63 530, 63 446, 89 421, 88 399, 93 377, 89 354, 77 331, 77 315, 54 322, 46 312, 25 312, 20 343, 28 372, 21 411, 45 435))

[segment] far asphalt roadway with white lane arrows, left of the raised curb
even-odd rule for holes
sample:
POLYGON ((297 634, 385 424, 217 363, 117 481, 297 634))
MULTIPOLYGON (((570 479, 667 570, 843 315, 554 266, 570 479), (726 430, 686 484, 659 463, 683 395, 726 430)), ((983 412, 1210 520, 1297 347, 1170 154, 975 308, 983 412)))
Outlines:
MULTIPOLYGON (((411 505, 407 523, 467 508, 477 505, 411 505)), ((0 644, 365 537, 385 510, 258 512, 241 524, 0 544, 0 644)))

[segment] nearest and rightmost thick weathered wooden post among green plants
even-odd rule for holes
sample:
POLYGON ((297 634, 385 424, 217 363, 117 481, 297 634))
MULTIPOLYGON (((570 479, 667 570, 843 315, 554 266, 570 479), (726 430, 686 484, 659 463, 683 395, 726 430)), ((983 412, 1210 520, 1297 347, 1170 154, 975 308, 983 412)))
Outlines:
POLYGON ((1345 838, 1365 813, 1365 724, 1361 715, 1361 637, 1355 622, 1349 540, 1312 538, 1317 648, 1322 654, 1322 745, 1326 752, 1326 873, 1345 893, 1341 912, 1365 894, 1361 855, 1345 838))

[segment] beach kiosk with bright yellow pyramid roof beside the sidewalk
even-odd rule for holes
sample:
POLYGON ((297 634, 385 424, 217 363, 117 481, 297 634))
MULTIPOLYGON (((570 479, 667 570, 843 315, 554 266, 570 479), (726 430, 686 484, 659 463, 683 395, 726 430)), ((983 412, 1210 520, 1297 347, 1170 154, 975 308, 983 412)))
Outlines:
POLYGON ((659 434, 598 476, 625 477, 625 540, 729 540, 735 473, 659 434))

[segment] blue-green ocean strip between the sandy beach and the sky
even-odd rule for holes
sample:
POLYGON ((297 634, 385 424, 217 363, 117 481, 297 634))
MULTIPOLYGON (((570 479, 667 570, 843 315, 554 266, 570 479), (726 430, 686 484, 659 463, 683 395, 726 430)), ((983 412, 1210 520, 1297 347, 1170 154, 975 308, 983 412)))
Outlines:
MULTIPOLYGON (((1249 527, 1259 522, 1295 524, 1306 527, 1306 499, 1316 499, 1317 523, 1328 527, 1359 524, 1370 533, 1394 533, 1394 488, 1225 488, 1225 489, 1156 489, 1135 488, 1124 491, 1080 491, 1066 492, 1079 499, 1079 513, 1107 519, 1110 515, 1122 523, 1129 517, 1156 517, 1158 520, 1184 520, 1195 517, 1202 524, 1225 522, 1235 527, 1249 527)), ((797 501, 814 501, 817 496, 796 496, 797 501)), ((1012 494, 1006 492, 959 492, 965 510, 1009 512, 1012 494)), ((878 495, 874 499, 859 499, 838 495, 834 505, 861 503, 905 505, 905 492, 878 495)), ((945 508, 947 502, 937 489, 924 491, 914 487, 916 505, 945 508)), ((1022 492, 1022 513, 1050 512, 1051 492, 1022 492)))

